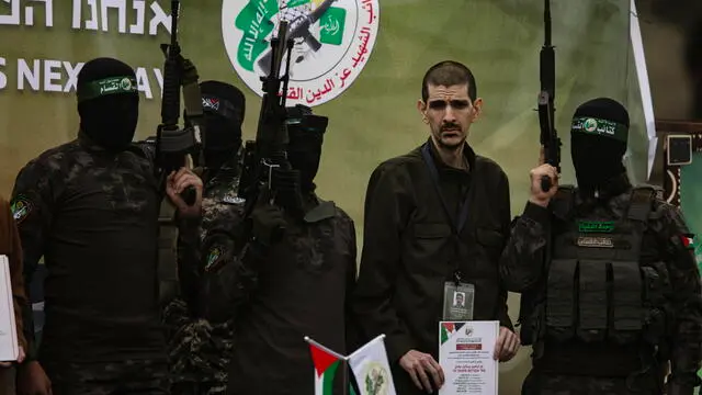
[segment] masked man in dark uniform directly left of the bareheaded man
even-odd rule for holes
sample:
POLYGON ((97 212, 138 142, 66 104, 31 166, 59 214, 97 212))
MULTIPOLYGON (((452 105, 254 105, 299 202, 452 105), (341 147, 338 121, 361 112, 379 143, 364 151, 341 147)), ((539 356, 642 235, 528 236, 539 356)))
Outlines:
POLYGON ((322 116, 292 116, 293 170, 274 171, 280 187, 274 204, 259 199, 247 221, 250 237, 219 233, 205 241, 219 256, 205 274, 207 318, 235 315, 227 394, 313 394, 314 365, 304 337, 347 351, 355 230, 341 208, 315 193, 326 126, 322 116))

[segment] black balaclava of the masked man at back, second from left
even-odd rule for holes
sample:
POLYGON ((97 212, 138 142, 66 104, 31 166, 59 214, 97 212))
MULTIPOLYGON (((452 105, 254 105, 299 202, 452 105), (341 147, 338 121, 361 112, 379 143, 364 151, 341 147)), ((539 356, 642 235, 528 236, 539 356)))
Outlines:
POLYGON ((203 156, 207 169, 234 167, 241 147, 246 98, 236 87, 219 81, 200 83, 205 115, 203 156))

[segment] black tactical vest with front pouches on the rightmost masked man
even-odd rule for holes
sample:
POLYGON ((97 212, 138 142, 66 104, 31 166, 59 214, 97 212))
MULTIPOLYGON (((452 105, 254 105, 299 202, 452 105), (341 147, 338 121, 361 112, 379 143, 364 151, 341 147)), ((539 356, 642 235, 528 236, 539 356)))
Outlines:
POLYGON ((526 345, 544 338, 660 342, 666 331, 668 272, 663 262, 642 264, 641 259, 655 190, 638 187, 631 193, 625 215, 615 218, 575 215, 575 190, 559 191, 552 207, 556 217, 566 221, 554 225, 547 275, 540 297, 523 295, 526 345))

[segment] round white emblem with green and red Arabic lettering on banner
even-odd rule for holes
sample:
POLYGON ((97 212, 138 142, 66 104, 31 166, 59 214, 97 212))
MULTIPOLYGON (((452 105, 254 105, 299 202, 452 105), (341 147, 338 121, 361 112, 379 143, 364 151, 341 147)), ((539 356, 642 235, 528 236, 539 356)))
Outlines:
POLYGON ((263 94, 260 78, 270 72, 269 41, 281 20, 290 22, 294 40, 287 105, 315 106, 349 89, 367 64, 380 4, 378 0, 224 0, 222 34, 229 60, 258 95, 263 94))

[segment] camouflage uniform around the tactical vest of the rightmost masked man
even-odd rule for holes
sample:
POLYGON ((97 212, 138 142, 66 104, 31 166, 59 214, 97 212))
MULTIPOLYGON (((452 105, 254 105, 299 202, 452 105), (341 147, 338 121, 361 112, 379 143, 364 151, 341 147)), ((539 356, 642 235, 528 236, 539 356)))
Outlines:
MULTIPOLYGON (((622 174, 616 182, 610 183, 609 190, 601 191, 598 200, 582 201, 576 190, 573 210, 591 213, 589 215, 593 217, 623 218, 631 206, 631 191, 629 179, 622 174)), ((542 268, 547 235, 558 235, 559 224, 564 224, 564 219, 557 212, 551 214, 532 203, 528 203, 523 215, 513 222, 500 269, 508 290, 522 293, 522 301, 531 297, 526 295, 534 290, 544 289, 541 280, 545 276, 542 268)), ((614 342, 574 340, 556 345, 556 340, 545 338, 541 343, 534 343, 534 369, 524 383, 523 393, 629 394, 635 393, 637 387, 641 394, 660 394, 664 372, 670 361, 668 394, 691 394, 692 387, 699 385, 697 371, 702 359, 702 296, 694 257, 683 241, 688 236, 689 229, 679 211, 654 200, 643 234, 639 264, 642 270, 648 270, 663 262, 672 290, 666 294, 667 308, 675 317, 667 324, 668 340, 657 352, 647 354, 641 339, 624 347, 614 342), (636 371, 631 371, 631 365, 637 365, 636 371)), ((531 305, 523 304, 520 312, 524 326, 522 334, 533 324, 533 316, 524 313, 525 307, 531 308, 531 305)))

